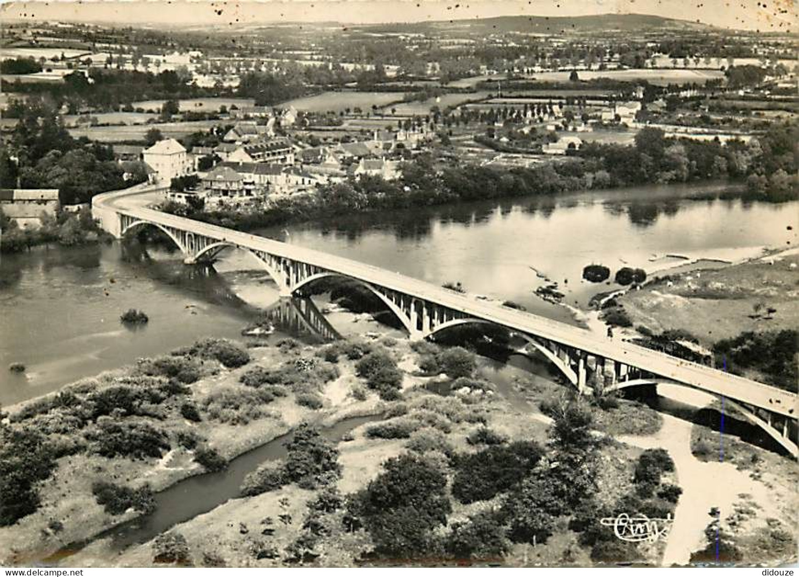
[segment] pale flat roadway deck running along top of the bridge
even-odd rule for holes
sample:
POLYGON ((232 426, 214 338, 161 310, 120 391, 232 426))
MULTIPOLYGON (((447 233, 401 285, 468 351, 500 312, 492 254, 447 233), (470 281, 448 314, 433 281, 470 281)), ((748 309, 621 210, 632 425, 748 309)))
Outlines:
POLYGON ((547 340, 559 342, 591 355, 618 361, 666 379, 675 380, 699 390, 728 396, 741 403, 763 408, 770 412, 796 419, 797 395, 741 376, 731 375, 702 364, 666 355, 662 352, 639 347, 627 342, 596 336, 585 329, 549 320, 542 316, 476 300, 459 292, 443 289, 425 281, 392 273, 372 265, 352 261, 348 258, 289 245, 280 241, 240 233, 236 230, 209 225, 189 218, 177 217, 157 210, 147 209, 141 204, 125 202, 125 196, 108 198, 105 204, 117 213, 124 213, 142 221, 182 229, 217 241, 236 245, 244 249, 256 249, 280 257, 316 265, 352 277, 372 285, 416 296, 442 306, 463 312, 479 320, 486 320, 512 331, 526 332, 547 340))

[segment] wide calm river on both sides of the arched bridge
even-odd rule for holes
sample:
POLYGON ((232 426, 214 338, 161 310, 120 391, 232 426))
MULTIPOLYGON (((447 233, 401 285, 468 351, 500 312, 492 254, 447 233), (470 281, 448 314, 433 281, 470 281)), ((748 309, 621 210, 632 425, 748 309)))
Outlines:
MULTIPOLYGON (((516 198, 261 233, 437 285, 459 281, 470 292, 574 323, 567 308, 535 296, 535 288, 548 282, 543 277, 559 282, 566 303, 584 306, 596 292, 613 288, 581 280, 582 267, 591 263, 651 271, 686 259, 731 261, 765 246, 795 244, 799 202, 717 200, 721 188, 649 186, 516 198)), ((145 251, 135 243, 4 255, 0 404, 58 390, 201 336, 238 336, 257 308, 277 296, 256 271, 247 253, 229 253, 216 271, 203 271, 183 265, 180 253, 145 251), (149 324, 124 328, 119 315, 127 308, 145 310, 149 324), (25 364, 26 372, 6 370, 14 362, 25 364)))

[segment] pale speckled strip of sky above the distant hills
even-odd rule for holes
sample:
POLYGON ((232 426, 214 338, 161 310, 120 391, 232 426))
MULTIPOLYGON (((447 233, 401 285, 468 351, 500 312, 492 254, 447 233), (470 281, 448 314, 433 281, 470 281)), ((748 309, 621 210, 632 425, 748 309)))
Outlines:
POLYGON ((259 22, 419 22, 491 16, 657 14, 746 30, 796 29, 794 0, 95 0, 7 2, 0 18, 117 24, 259 22))

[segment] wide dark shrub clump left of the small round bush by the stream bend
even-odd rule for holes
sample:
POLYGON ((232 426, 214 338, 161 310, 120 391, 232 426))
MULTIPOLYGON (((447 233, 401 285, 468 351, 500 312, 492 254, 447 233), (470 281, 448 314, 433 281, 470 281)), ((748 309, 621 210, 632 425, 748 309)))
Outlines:
POLYGON ((133 459, 161 457, 169 450, 169 440, 163 431, 141 422, 115 422, 104 417, 86 432, 86 439, 97 455, 127 456, 133 459))

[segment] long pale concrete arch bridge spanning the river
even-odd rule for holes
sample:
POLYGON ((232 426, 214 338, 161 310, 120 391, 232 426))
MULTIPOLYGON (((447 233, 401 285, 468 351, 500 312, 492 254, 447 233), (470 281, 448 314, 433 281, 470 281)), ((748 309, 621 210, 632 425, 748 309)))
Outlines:
POLYGON ((280 296, 302 296, 304 288, 323 278, 355 281, 383 301, 411 339, 434 337, 463 324, 497 325, 522 337, 528 350, 547 357, 584 394, 662 382, 723 396, 791 455, 799 456, 796 393, 343 257, 148 209, 131 194, 121 191, 93 199, 94 217, 114 237, 156 227, 181 249, 188 264, 213 261, 225 249, 244 249, 272 277, 280 296))

